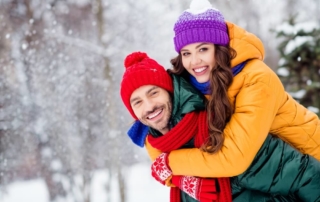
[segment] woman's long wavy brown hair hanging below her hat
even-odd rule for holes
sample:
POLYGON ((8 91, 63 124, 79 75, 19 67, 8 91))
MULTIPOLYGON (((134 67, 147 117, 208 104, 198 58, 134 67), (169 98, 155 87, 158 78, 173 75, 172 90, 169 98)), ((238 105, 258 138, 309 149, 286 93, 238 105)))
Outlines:
MULTIPOLYGON (((201 147, 203 151, 208 153, 215 153, 223 146, 223 130, 233 113, 227 90, 233 81, 231 60, 236 56, 236 51, 231 47, 220 45, 214 45, 214 47, 216 66, 210 73, 211 97, 206 102, 209 139, 201 147)), ((189 73, 182 64, 181 54, 170 62, 173 69, 169 69, 169 73, 180 75, 189 80, 189 73)))

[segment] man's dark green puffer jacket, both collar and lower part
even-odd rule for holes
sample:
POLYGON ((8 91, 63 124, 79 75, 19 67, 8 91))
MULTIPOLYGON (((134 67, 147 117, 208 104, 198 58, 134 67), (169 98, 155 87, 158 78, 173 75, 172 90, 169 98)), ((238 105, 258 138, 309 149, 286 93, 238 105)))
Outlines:
MULTIPOLYGON (((205 98, 182 77, 172 78, 174 127, 184 114, 204 110, 205 98)), ((155 137, 161 135, 152 129, 150 132, 155 137)), ((193 140, 183 148, 190 147, 194 147, 193 140)), ((250 167, 230 180, 235 202, 320 201, 320 162, 272 135, 268 135, 250 167)), ((181 194, 182 202, 196 202, 186 193, 181 194)))

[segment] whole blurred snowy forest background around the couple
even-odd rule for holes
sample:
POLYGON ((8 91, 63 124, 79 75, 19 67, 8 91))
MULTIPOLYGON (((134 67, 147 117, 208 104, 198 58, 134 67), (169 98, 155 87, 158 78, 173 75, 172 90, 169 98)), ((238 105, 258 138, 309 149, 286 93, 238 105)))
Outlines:
MULTIPOLYGON (((320 0, 210 2, 261 38, 265 62, 319 114, 320 0)), ((126 201, 126 169, 149 159, 126 135, 123 60, 145 51, 170 68, 189 3, 0 0, 0 200, 10 183, 41 178, 51 202, 90 202, 92 173, 107 169, 126 201)))

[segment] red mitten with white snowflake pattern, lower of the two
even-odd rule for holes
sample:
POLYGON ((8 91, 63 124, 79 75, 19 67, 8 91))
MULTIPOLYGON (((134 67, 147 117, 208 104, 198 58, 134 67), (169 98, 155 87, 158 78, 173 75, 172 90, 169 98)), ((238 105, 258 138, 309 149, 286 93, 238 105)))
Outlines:
POLYGON ((172 176, 172 183, 200 202, 217 201, 216 180, 193 176, 172 176))

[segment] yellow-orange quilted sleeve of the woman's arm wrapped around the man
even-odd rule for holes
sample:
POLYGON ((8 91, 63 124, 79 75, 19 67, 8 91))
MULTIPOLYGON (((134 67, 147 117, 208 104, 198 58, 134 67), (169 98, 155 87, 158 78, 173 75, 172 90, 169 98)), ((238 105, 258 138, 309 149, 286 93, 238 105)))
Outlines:
POLYGON ((200 149, 180 149, 169 155, 174 175, 231 177, 243 173, 252 163, 269 133, 282 98, 283 86, 263 62, 253 60, 237 75, 231 90, 235 111, 224 130, 222 149, 209 154, 200 149), (240 86, 240 89, 236 89, 240 86))

